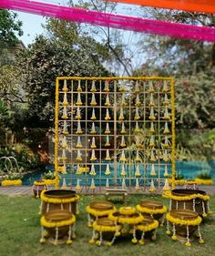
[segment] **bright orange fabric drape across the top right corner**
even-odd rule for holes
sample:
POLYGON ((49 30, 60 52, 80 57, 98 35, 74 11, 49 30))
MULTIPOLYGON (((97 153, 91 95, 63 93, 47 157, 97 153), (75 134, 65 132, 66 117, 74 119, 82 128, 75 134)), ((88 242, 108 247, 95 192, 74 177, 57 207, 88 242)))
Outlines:
POLYGON ((215 0, 106 0, 131 5, 176 9, 189 12, 215 14, 215 0))

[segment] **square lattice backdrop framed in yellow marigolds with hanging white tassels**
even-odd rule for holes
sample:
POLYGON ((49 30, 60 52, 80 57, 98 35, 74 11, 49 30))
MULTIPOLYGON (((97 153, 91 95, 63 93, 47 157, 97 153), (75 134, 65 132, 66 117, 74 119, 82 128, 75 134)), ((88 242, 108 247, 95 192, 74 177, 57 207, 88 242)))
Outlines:
POLYGON ((172 77, 57 77, 56 187, 169 189, 174 119, 172 77))

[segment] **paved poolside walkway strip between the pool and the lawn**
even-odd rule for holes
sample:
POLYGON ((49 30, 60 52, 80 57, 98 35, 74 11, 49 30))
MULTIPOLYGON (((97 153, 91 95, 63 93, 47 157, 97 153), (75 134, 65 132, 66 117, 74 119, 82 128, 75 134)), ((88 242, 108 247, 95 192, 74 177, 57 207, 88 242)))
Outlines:
MULTIPOLYGON (((53 187, 49 187, 49 189, 54 189, 53 187)), ((105 189, 105 188, 104 188, 105 189)), ((101 193, 105 193, 105 190, 101 190, 101 193)), ((215 185, 212 186, 199 186, 200 190, 206 191, 209 195, 215 195, 215 185)), ((80 191, 80 193, 83 193, 80 191)), ((95 190, 95 194, 98 194, 99 191, 95 190)), ((129 193, 129 192, 128 192, 129 193)), ((131 193, 138 193, 138 194, 148 194, 148 192, 144 191, 132 191, 131 193)), ((159 193, 161 194, 162 191, 160 190, 159 193)), ((88 193, 87 193, 88 194, 88 193)), ((92 194, 89 193, 89 194, 92 194)), ((25 195, 33 195, 32 193, 32 187, 30 186, 11 186, 11 187, 2 187, 0 186, 0 195, 8 195, 8 196, 25 196, 25 195)))

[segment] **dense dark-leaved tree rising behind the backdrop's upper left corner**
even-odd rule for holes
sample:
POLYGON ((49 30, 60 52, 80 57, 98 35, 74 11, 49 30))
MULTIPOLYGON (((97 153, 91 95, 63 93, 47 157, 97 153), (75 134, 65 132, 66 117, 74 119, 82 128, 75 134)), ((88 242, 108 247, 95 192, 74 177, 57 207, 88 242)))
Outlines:
POLYGON ((18 60, 26 77, 29 118, 34 124, 49 127, 54 118, 55 81, 61 76, 107 76, 90 37, 79 38, 80 44, 67 44, 58 38, 37 36, 18 60))

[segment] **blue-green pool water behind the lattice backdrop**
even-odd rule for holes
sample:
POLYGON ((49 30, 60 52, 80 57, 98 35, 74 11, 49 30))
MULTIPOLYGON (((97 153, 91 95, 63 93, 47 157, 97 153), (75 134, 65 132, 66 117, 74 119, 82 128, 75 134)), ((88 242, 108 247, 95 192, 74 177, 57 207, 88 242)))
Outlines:
MULTIPOLYGON (((23 184, 24 185, 33 185, 33 182, 35 180, 41 179, 41 177, 43 176, 44 172, 47 172, 48 170, 53 170, 54 171, 54 166, 53 165, 49 165, 46 167, 46 171, 44 170, 38 170, 34 173, 31 174, 26 174, 23 178, 23 184)), ((95 184, 98 185, 102 185, 104 186, 106 184, 106 179, 109 179, 109 185, 114 185, 114 165, 113 163, 110 163, 110 171, 111 171, 111 175, 109 175, 108 177, 105 175, 105 171, 106 171, 106 165, 103 165, 101 170, 99 171, 99 167, 97 164, 95 164, 95 170, 97 172, 97 175, 95 176, 90 176, 86 173, 82 174, 82 175, 76 175, 75 173, 77 172, 77 169, 74 169, 72 171, 72 173, 69 171, 67 171, 67 175, 64 175, 63 178, 67 179, 67 183, 71 184, 71 182, 73 183, 73 185, 76 185, 77 182, 77 178, 80 179, 80 182, 82 185, 90 185, 90 181, 91 178, 95 179, 95 184), (99 173, 100 172, 100 173, 99 173), (71 179, 71 177, 73 177, 73 179, 71 179), (87 179, 90 178, 90 179, 87 179), (100 180, 99 180, 100 179, 100 180)), ((158 167, 155 166, 155 171, 158 173, 160 170, 160 178, 163 178, 163 174, 164 174, 164 165, 158 167)), ((196 176, 198 174, 200 174, 202 171, 207 171, 210 173, 210 175, 212 176, 212 179, 215 179, 215 165, 214 162, 212 163, 206 163, 206 162, 200 162, 200 161, 177 161, 176 162, 176 170, 178 173, 182 174, 184 176, 185 179, 195 179, 196 176)), ((144 173, 144 169, 142 166, 139 165, 139 171, 140 173, 144 173)), ((120 172, 121 172, 121 166, 118 166, 117 169, 117 183, 118 185, 121 185, 122 179, 120 176, 120 172)), ((126 172, 128 173, 128 168, 126 169, 126 172)), ((146 169, 146 178, 151 178, 151 176, 149 175, 150 172, 150 165, 147 167, 146 169)), ((169 173, 171 172, 171 167, 169 166, 169 173)), ((132 166, 130 169, 130 175, 132 177, 134 177, 134 173, 135 173, 135 167, 132 166)), ((158 179, 158 176, 153 176, 153 179, 158 179)), ((128 180, 126 181, 127 185, 128 185, 128 180)), ((131 179, 130 181, 130 185, 134 185, 136 182, 136 179, 131 179)), ((141 183, 143 182, 143 179, 139 178, 139 185, 141 185, 141 183)), ((67 184, 67 185, 68 185, 67 184)))

